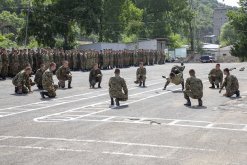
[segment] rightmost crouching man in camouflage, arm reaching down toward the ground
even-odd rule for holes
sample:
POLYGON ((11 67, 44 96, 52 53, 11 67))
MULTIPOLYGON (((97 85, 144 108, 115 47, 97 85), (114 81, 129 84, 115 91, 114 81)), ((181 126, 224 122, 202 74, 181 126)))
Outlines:
POLYGON ((226 77, 220 88, 219 93, 221 93, 222 89, 225 87, 226 93, 224 94, 224 96, 232 97, 236 94, 237 97, 240 97, 239 83, 237 77, 231 75, 228 68, 224 69, 224 75, 226 75, 226 77))

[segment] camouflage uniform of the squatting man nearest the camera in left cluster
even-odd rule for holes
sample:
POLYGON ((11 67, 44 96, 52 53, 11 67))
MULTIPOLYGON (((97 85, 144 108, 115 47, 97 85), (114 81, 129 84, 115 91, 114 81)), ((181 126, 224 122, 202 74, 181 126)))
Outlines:
POLYGON ((44 90, 47 91, 47 95, 50 98, 56 97, 56 90, 57 90, 57 86, 54 85, 52 76, 53 73, 50 69, 47 69, 42 76, 42 86, 44 90))

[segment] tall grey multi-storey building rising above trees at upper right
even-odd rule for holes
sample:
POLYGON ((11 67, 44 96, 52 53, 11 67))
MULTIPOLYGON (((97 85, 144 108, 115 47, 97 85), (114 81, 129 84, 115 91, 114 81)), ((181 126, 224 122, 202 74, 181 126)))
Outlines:
POLYGON ((220 36, 222 26, 226 22, 228 22, 227 12, 228 12, 228 8, 226 7, 216 8, 214 10, 214 16, 213 16, 214 32, 213 33, 216 37, 220 36))

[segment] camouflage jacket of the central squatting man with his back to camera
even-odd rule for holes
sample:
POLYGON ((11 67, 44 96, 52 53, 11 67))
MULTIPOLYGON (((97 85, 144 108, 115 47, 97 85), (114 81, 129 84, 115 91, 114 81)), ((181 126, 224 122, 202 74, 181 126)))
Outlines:
POLYGON ((120 76, 111 77, 109 80, 109 93, 112 97, 118 97, 124 91, 124 94, 128 94, 128 88, 126 82, 120 76))

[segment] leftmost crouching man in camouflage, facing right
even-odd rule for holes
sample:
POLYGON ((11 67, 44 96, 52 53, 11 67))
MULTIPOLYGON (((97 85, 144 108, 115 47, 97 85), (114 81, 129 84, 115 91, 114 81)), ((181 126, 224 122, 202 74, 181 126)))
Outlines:
POLYGON ((15 93, 27 94, 32 92, 29 78, 31 73, 32 69, 30 67, 26 67, 13 78, 12 83, 15 86, 15 93))

